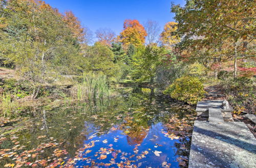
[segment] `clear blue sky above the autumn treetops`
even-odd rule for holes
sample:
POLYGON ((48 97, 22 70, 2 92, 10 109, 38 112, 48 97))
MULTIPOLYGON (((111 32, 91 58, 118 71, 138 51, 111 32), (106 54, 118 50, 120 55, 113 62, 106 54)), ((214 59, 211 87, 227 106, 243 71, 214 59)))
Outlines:
POLYGON ((142 24, 148 19, 163 26, 173 21, 170 4, 185 4, 185 0, 45 0, 61 13, 71 10, 83 26, 92 32, 99 28, 112 29, 118 35, 125 19, 137 19, 142 24))

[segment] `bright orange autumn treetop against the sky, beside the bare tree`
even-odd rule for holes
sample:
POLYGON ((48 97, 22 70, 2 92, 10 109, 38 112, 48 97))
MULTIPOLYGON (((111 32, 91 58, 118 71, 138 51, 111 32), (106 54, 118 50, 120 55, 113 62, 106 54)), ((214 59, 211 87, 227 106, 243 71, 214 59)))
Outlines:
POLYGON ((123 23, 123 31, 118 36, 119 41, 125 46, 129 44, 134 44, 139 46, 145 43, 145 37, 147 33, 139 23, 138 20, 125 20, 123 23))

